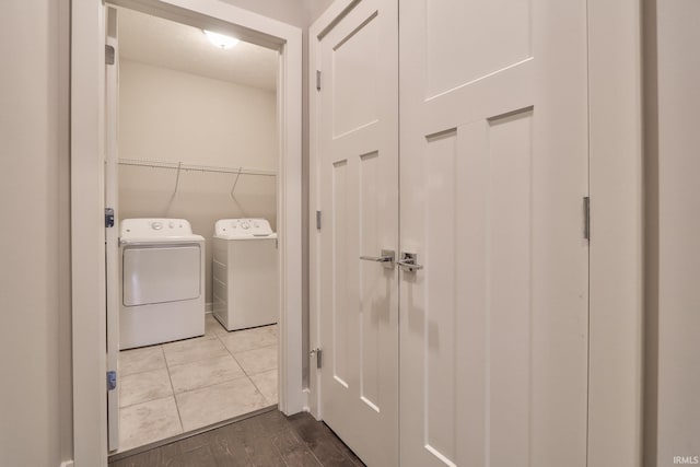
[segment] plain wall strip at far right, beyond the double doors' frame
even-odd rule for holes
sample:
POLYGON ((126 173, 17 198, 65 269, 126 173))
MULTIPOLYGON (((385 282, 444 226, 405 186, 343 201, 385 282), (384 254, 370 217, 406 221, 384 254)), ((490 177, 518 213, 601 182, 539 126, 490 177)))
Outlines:
POLYGON ((700 456, 700 2, 646 14, 646 466, 700 456))

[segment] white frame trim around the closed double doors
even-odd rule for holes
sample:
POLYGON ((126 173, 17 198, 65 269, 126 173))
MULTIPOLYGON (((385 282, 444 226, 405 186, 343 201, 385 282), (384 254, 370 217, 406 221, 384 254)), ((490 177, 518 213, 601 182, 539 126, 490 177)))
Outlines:
MULTIPOLYGON (((320 38, 358 1, 336 0, 311 26, 310 77, 319 69, 320 38)), ((642 447, 641 11, 639 0, 587 0, 587 9, 592 205, 588 465, 635 467, 641 463, 642 447)), ((308 96, 308 209, 314 212, 320 199, 320 100, 315 80, 310 80, 308 96)), ((315 223, 315 217, 310 215, 312 349, 323 346, 318 310, 320 242, 315 223)), ((310 374, 310 392, 311 412, 320 420, 317 371, 310 374)))

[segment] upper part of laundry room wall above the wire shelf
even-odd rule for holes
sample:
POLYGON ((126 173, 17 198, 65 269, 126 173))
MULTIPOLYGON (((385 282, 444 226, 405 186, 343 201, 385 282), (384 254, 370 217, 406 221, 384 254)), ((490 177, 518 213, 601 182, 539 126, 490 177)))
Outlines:
POLYGON ((277 168, 276 95, 119 62, 119 156, 277 168))

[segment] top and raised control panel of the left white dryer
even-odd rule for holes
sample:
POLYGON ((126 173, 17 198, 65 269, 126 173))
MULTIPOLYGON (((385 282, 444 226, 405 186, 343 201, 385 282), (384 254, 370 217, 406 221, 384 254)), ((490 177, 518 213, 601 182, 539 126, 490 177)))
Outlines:
POLYGON ((192 227, 185 219, 122 219, 121 243, 178 243, 201 242, 201 235, 192 234, 192 227))

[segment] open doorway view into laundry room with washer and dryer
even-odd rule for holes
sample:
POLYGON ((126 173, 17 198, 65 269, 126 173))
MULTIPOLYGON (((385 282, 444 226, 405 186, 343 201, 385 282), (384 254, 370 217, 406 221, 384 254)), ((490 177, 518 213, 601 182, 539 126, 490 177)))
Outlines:
POLYGON ((278 402, 279 51, 107 10, 109 451, 278 402))

